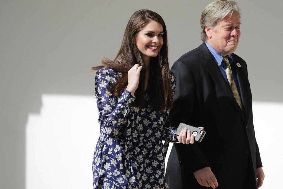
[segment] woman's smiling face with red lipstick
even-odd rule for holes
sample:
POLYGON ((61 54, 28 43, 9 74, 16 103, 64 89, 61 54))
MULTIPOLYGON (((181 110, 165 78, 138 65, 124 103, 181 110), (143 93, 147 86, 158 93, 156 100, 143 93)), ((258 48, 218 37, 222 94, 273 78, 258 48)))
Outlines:
POLYGON ((163 45, 163 27, 156 21, 149 23, 139 31, 136 37, 136 47, 141 51, 144 61, 158 55, 163 45))

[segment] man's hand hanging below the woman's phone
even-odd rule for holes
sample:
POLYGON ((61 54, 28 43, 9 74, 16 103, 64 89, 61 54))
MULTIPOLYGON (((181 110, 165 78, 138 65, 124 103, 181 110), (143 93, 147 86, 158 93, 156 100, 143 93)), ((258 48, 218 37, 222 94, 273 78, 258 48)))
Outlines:
POLYGON ((211 188, 218 187, 218 182, 210 167, 205 167, 197 170, 194 172, 194 175, 200 185, 211 188))

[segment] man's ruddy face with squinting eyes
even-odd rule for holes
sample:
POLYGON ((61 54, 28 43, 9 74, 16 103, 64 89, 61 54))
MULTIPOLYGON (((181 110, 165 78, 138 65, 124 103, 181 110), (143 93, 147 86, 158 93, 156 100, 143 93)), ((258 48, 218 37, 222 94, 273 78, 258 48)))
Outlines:
POLYGON ((240 40, 240 18, 238 13, 234 12, 229 18, 227 15, 218 24, 210 29, 205 27, 207 42, 221 55, 227 56, 235 52, 240 40))

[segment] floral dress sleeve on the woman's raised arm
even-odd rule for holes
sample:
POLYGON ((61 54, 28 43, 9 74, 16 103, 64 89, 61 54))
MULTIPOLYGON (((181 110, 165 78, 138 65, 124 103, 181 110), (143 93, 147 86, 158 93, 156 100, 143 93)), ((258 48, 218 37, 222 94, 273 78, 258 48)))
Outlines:
POLYGON ((135 100, 134 94, 125 90, 117 98, 108 90, 117 82, 117 73, 111 69, 99 69, 95 78, 95 94, 98 107, 98 121, 106 133, 112 137, 128 121, 129 110, 135 100))

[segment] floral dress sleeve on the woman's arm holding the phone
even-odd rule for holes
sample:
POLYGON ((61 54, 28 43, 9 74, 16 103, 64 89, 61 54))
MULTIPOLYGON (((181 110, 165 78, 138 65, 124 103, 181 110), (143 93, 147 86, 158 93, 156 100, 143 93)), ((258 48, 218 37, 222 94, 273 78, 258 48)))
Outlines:
MULTIPOLYGON (((171 71, 170 71, 170 77, 171 77, 172 92, 174 95, 176 81, 175 81, 175 76, 171 71)), ((178 140, 174 137, 176 128, 171 127, 170 119, 169 119, 169 112, 170 112, 169 110, 164 111, 162 140, 177 143, 178 140)))

